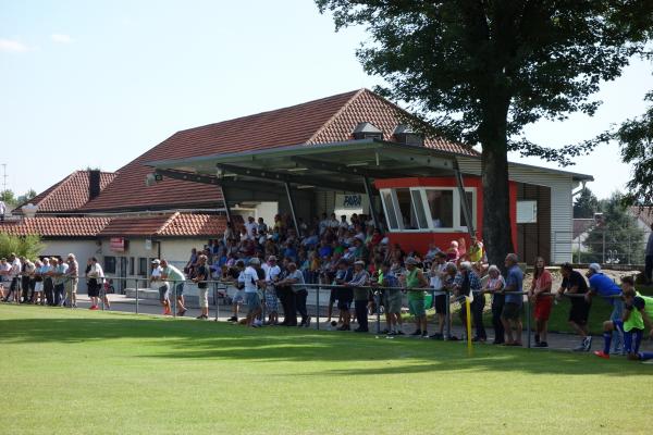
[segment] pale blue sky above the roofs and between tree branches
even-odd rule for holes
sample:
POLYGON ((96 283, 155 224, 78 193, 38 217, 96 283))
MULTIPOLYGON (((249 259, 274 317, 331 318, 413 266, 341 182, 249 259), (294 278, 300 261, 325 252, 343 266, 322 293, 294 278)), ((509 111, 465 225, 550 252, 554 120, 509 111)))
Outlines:
MULTIPOLYGON (((75 170, 115 171, 180 129, 373 88, 355 55, 366 38, 335 33, 311 0, 0 0, 7 188, 42 191, 75 170)), ((602 85, 593 117, 539 122, 527 137, 566 145, 643 113, 652 71, 633 61, 602 85)), ((600 198, 630 175, 616 144, 566 170, 593 175, 600 198)))

